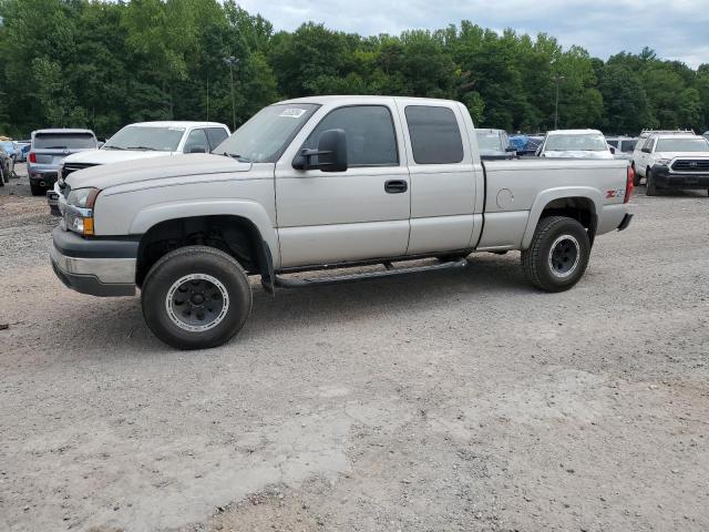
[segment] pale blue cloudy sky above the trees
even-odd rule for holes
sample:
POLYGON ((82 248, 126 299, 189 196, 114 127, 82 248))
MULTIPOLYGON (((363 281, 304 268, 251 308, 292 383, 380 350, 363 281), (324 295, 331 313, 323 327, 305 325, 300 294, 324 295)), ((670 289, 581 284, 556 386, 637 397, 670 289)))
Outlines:
POLYGON ((709 0, 237 0, 276 30, 322 22, 362 35, 439 29, 470 20, 484 28, 556 37, 602 59, 653 48, 692 68, 709 63, 709 0))

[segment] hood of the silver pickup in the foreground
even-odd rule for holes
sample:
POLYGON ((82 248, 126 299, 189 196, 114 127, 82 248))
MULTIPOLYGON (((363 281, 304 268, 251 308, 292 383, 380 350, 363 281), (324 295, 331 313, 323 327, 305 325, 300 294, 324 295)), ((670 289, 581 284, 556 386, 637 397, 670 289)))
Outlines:
POLYGON ((251 163, 240 163, 224 155, 193 153, 173 157, 150 157, 92 166, 73 172, 66 177, 66 183, 72 188, 95 186, 96 188, 105 190, 110 186, 125 185, 140 181, 247 172, 250 168, 251 163))

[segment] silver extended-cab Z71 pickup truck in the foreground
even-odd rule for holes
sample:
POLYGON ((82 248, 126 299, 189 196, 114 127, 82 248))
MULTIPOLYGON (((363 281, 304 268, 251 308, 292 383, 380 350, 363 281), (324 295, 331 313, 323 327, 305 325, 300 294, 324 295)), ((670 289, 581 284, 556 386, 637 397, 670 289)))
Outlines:
POLYGON ((520 249, 532 284, 568 289, 594 238, 630 223, 633 177, 617 160, 483 164, 470 114, 453 101, 289 100, 263 109, 212 154, 69 175, 51 262, 83 294, 141 288, 158 338, 207 348, 246 321, 249 275, 274 293, 520 249), (392 264, 428 257, 439 260, 392 264), (383 268, 288 275, 372 264, 383 268))

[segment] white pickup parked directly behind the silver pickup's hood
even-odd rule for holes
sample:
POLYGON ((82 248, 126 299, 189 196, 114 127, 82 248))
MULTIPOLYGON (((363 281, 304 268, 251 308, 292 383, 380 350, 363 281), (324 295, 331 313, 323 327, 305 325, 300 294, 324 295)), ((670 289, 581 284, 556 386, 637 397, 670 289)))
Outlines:
MULTIPOLYGON (((64 158, 59 173, 65 178, 72 172, 100 164, 148 158, 181 153, 208 153, 230 134, 218 122, 140 122, 121 129, 100 150, 74 153, 64 158)), ((59 215, 59 188, 48 191, 52 214, 59 215)))

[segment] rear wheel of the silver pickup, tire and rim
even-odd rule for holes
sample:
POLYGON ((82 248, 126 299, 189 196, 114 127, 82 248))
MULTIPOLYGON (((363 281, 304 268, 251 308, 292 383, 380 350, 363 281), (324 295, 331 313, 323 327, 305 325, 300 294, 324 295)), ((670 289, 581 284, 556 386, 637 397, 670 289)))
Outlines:
POLYGON ((566 216, 549 216, 540 221, 530 248, 522 252, 522 267, 536 287, 563 291, 583 277, 589 256, 584 226, 566 216))

